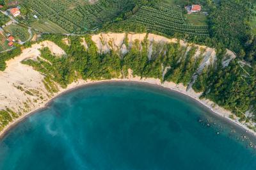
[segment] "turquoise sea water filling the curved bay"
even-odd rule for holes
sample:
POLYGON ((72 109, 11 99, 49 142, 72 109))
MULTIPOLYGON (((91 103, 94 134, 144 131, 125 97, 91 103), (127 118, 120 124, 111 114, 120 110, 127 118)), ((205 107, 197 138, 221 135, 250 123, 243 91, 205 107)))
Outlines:
POLYGON ((94 84, 10 130, 0 140, 0 169, 255 170, 256 151, 237 131, 163 88, 94 84))

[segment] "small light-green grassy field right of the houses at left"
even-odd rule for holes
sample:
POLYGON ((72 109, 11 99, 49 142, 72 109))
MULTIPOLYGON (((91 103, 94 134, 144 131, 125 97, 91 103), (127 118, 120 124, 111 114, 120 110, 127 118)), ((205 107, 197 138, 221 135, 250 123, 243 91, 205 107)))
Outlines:
POLYGON ((36 22, 31 24, 31 27, 36 31, 46 32, 46 33, 61 33, 61 34, 68 34, 68 31, 63 29, 62 27, 58 26, 51 22, 51 20, 47 19, 40 19, 36 22))

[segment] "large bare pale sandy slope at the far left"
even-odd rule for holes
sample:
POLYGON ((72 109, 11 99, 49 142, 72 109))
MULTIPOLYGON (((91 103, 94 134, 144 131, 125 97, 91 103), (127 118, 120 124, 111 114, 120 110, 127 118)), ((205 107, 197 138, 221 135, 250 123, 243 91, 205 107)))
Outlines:
POLYGON ((36 59, 40 56, 39 49, 43 47, 48 47, 55 56, 65 54, 55 43, 45 41, 22 50, 20 56, 6 61, 6 70, 0 72, 0 110, 8 107, 14 112, 24 114, 31 108, 40 107, 51 97, 43 83, 44 75, 33 70, 31 66, 20 63, 26 59, 36 59))

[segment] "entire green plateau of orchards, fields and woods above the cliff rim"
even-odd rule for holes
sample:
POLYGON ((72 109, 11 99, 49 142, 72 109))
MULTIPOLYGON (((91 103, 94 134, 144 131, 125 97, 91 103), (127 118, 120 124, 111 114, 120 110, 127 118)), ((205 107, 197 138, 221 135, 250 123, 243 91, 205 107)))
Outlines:
POLYGON ((230 49, 250 63, 256 58, 251 50, 255 48, 255 0, 19 0, 0 4, 5 4, 2 13, 19 6, 16 22, 38 35, 147 32, 230 49), (185 7, 192 4, 202 10, 189 13, 185 7))

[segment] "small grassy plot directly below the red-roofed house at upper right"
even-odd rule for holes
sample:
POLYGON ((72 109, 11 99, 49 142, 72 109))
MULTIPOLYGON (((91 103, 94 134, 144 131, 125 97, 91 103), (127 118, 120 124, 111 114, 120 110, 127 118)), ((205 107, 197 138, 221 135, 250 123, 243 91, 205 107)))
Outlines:
POLYGON ((207 26, 207 17, 200 14, 184 15, 186 22, 192 26, 207 26))

